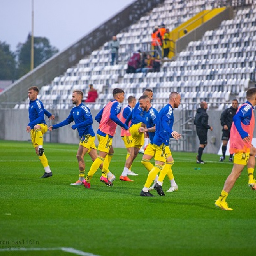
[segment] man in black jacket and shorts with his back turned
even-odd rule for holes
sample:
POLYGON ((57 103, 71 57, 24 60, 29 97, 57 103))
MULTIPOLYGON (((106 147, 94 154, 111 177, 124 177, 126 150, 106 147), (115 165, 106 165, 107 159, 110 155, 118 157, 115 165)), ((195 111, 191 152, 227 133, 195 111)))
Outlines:
POLYGON ((203 150, 207 145, 207 132, 208 129, 212 131, 212 126, 208 125, 208 114, 206 113, 206 109, 208 108, 208 104, 205 101, 200 103, 200 108, 196 110, 196 116, 194 120, 194 124, 196 125, 196 133, 200 141, 200 145, 198 148, 198 155, 196 156, 198 164, 204 164, 204 161, 201 159, 203 150))

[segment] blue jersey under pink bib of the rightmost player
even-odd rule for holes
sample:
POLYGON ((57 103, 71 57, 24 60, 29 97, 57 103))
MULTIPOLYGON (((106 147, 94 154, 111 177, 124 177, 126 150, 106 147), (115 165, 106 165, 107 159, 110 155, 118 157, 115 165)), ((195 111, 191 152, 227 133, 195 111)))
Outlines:
POLYGON ((241 122, 244 125, 249 125, 252 118, 252 109, 254 109, 254 107, 249 101, 246 101, 245 104, 246 105, 242 106, 239 109, 239 111, 236 112, 236 115, 233 117, 234 125, 236 126, 236 129, 239 132, 242 139, 247 137, 249 134, 243 130, 241 122))

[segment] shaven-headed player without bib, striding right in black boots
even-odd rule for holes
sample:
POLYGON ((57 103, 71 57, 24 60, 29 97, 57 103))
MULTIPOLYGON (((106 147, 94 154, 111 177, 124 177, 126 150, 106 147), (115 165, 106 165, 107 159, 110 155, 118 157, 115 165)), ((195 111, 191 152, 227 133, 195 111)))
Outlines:
POLYGON ((164 196, 162 184, 166 174, 172 169, 174 163, 172 154, 169 148, 170 137, 178 140, 181 134, 172 130, 174 123, 173 109, 180 105, 180 94, 178 92, 171 92, 169 95, 169 104, 162 108, 156 118, 156 133, 153 139, 153 149, 155 154, 155 166, 148 173, 146 183, 140 192, 140 196, 153 196, 149 192, 149 187, 155 179, 158 172, 159 178, 154 188, 160 196, 164 196))

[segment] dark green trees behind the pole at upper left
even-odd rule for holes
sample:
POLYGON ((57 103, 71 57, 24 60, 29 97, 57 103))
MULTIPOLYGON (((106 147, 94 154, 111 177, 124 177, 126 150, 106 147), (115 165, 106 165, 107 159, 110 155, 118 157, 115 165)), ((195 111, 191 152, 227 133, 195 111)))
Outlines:
MULTIPOLYGON (((52 57, 59 50, 46 37, 34 37, 34 67, 52 57)), ((19 43, 12 52, 10 45, 0 40, 0 80, 17 80, 30 71, 31 35, 25 43, 19 43)))

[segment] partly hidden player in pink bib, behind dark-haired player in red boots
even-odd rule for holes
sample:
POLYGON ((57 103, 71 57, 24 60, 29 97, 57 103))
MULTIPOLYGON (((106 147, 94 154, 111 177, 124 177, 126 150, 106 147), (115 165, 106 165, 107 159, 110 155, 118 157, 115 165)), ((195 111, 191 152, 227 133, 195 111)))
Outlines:
MULTIPOLYGON (((127 100, 128 100, 128 105, 123 109, 121 118, 120 118, 120 120, 123 123, 126 121, 127 116, 129 116, 129 114, 132 112, 132 109, 134 108, 134 106, 136 104, 136 98, 134 96, 129 96, 127 100)), ((121 127, 121 138, 124 141, 124 145, 127 150, 127 155, 126 155, 126 159, 127 159, 131 154, 131 148, 134 147, 134 143, 132 141, 132 136, 131 136, 129 130, 125 130, 124 128, 121 127)), ((131 171, 131 167, 128 171, 128 175, 137 176, 138 174, 131 171)))

